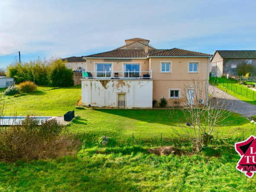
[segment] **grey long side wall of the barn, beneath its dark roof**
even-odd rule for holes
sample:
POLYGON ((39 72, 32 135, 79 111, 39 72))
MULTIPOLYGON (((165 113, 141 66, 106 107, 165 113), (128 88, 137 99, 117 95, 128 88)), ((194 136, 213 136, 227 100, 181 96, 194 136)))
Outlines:
MULTIPOLYGON (((237 67, 240 64, 243 64, 243 62, 246 62, 246 59, 224 59, 223 64, 223 74, 230 74, 236 76, 238 74, 237 68, 231 68, 231 65, 236 65, 237 67)), ((256 69, 256 59, 252 59, 252 64, 256 69)), ((256 70, 251 72, 252 74, 256 73, 256 70)))

